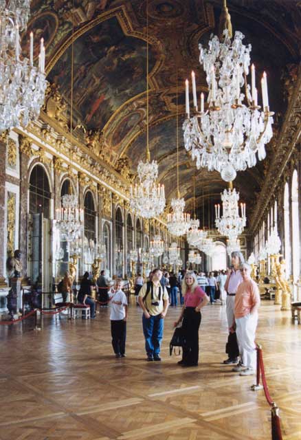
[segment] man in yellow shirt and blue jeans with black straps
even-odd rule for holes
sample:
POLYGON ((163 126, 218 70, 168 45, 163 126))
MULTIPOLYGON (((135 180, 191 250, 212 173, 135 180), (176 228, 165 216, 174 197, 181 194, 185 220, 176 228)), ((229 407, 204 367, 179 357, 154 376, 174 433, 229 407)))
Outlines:
POLYGON ((152 281, 140 289, 138 301, 143 310, 142 326, 148 362, 160 361, 160 347, 163 338, 164 318, 168 309, 168 293, 160 280, 162 272, 153 270, 152 281))

